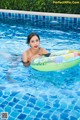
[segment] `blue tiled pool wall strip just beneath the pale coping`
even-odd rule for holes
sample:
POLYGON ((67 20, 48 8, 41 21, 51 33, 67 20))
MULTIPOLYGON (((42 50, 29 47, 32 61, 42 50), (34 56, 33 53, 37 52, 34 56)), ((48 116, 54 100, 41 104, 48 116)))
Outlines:
POLYGON ((14 18, 14 19, 24 19, 24 20, 41 20, 41 21, 58 21, 58 22, 70 22, 70 23, 78 23, 80 22, 80 18, 75 18, 75 17, 60 17, 60 16, 45 16, 45 15, 31 15, 31 14, 21 14, 21 13, 11 13, 11 12, 1 12, 0 11, 0 18, 14 18))

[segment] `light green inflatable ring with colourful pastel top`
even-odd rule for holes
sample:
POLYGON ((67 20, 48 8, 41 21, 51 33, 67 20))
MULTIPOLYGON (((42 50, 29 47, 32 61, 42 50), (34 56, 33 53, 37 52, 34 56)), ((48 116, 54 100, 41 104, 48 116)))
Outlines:
POLYGON ((80 63, 80 51, 63 50, 42 56, 31 62, 31 67, 39 71, 58 71, 71 68, 80 63))

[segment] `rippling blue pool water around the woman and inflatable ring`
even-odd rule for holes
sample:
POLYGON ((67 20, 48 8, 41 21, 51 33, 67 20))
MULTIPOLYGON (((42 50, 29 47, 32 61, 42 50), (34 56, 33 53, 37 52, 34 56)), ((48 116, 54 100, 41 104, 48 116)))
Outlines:
POLYGON ((80 50, 79 21, 66 21, 0 18, 0 113, 8 120, 80 120, 80 65, 39 72, 21 62, 32 31, 50 52, 80 50))

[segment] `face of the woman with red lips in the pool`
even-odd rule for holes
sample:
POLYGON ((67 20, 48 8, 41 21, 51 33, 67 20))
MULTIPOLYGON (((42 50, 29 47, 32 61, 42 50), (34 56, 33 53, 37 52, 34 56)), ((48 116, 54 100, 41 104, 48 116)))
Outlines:
POLYGON ((29 45, 31 46, 31 48, 33 49, 38 49, 39 48, 39 45, 40 45, 40 40, 37 36, 33 36, 31 39, 30 39, 30 43, 29 45))

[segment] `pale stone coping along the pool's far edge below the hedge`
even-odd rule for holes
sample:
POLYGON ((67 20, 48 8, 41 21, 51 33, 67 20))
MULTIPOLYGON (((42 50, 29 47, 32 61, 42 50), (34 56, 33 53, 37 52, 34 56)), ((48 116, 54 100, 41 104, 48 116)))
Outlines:
POLYGON ((17 13, 17 14, 30 14, 30 15, 42 15, 42 16, 80 18, 79 14, 47 13, 47 12, 33 12, 33 11, 31 12, 31 11, 6 10, 6 9, 0 9, 0 12, 17 13))

